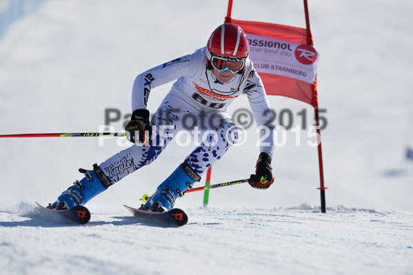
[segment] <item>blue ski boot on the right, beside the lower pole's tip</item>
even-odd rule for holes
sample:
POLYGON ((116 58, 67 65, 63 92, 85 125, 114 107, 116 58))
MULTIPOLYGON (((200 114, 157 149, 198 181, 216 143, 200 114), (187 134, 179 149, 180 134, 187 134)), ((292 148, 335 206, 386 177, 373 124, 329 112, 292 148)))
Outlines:
POLYGON ((152 212, 167 212, 174 207, 177 198, 181 198, 186 190, 192 188, 192 184, 195 181, 201 181, 201 176, 192 170, 188 163, 182 163, 168 179, 165 179, 159 185, 157 191, 139 209, 152 212))

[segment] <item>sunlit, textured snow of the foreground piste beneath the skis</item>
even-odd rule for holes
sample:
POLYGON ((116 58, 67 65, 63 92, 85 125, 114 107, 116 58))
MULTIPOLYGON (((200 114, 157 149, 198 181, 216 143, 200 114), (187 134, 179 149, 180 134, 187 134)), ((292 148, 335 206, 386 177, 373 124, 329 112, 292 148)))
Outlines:
MULTIPOLYGON (((31 207, 34 210, 30 210, 31 207)), ((179 228, 0 212, 1 274, 412 274, 413 214, 349 207, 186 210, 179 228), (24 241, 22 241, 24 240, 24 241)))

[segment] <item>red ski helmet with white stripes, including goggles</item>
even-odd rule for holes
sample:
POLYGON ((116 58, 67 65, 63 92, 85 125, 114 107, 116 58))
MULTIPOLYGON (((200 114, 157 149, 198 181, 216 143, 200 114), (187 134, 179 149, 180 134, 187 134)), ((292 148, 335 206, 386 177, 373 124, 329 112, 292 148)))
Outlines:
POLYGON ((212 32, 207 44, 208 70, 230 70, 242 73, 250 53, 243 29, 234 23, 224 23, 212 32))

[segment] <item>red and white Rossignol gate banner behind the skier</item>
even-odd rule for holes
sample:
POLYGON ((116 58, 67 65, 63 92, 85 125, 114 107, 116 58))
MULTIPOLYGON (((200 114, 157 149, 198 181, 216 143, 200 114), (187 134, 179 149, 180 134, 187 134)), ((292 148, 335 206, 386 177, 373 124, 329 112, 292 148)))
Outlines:
POLYGON ((230 19, 243 28, 250 43, 250 59, 267 94, 288 96, 318 106, 316 69, 319 53, 302 28, 230 19))

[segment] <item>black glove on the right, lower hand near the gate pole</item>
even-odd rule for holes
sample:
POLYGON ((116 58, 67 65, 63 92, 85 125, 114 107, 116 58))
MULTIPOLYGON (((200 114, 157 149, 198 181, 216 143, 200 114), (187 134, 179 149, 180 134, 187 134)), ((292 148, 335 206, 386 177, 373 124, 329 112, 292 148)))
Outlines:
POLYGON ((259 154, 255 165, 255 174, 250 176, 248 183, 256 189, 267 189, 273 182, 271 157, 263 152, 259 154))

